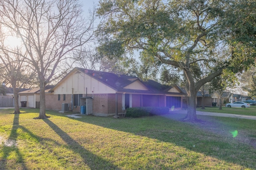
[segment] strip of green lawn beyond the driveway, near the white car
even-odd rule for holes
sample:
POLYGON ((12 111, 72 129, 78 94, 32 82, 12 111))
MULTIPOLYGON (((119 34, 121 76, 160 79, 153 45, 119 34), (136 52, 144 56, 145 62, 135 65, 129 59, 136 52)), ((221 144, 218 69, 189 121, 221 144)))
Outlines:
POLYGON ((205 107, 205 109, 201 109, 201 107, 198 107, 198 108, 196 108, 196 110, 197 111, 216 112, 216 113, 230 113, 230 114, 238 114, 238 115, 256 116, 256 106, 250 106, 249 108, 222 106, 222 109, 219 109, 219 107, 205 107))

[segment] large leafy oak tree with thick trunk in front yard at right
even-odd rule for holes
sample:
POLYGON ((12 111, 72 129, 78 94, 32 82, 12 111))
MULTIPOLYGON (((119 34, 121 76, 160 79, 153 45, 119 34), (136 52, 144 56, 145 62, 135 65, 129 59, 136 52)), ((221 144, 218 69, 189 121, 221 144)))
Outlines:
POLYGON ((223 69, 241 71, 244 65, 232 63, 234 59, 251 62, 234 43, 240 42, 234 40, 238 37, 234 24, 245 16, 234 15, 243 6, 237 9, 239 1, 100 0, 99 4, 98 14, 104 19, 98 27, 100 49, 109 55, 139 49, 143 61, 161 61, 183 70, 189 121, 198 120, 196 94, 202 85, 223 69), (200 61, 208 63, 209 74, 197 80, 200 61))

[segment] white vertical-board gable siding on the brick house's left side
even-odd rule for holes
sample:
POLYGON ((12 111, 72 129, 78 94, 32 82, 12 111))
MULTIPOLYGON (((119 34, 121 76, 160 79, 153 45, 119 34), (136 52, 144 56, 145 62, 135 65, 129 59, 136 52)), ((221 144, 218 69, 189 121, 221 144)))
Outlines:
POLYGON ((57 87, 54 88, 54 94, 109 94, 116 91, 102 82, 94 79, 87 74, 75 72, 66 77, 57 87))

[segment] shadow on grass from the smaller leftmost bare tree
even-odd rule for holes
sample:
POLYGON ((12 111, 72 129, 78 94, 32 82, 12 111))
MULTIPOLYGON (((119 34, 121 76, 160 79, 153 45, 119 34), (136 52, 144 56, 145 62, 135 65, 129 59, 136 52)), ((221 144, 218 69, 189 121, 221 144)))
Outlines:
POLYGON ((3 156, 0 160, 0 169, 27 169, 23 156, 17 147, 17 129, 19 128, 19 116, 20 114, 14 114, 10 136, 6 141, 4 141, 4 146, 1 149, 3 156), (8 160, 8 156, 11 155, 16 155, 15 161, 8 160))

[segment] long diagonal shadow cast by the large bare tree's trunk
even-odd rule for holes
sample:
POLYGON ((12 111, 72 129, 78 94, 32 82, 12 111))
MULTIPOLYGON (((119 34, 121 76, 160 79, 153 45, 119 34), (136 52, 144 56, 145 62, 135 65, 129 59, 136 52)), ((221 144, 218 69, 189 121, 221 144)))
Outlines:
POLYGON ((108 160, 100 158, 99 156, 92 154, 92 152, 84 149, 84 147, 82 147, 77 141, 72 139, 67 133, 65 133, 62 129, 60 129, 49 119, 43 120, 62 138, 63 141, 65 141, 68 144, 69 148, 73 150, 73 152, 80 154, 81 158, 84 160, 84 163, 86 163, 91 169, 120 169, 111 162, 109 162, 108 160))

